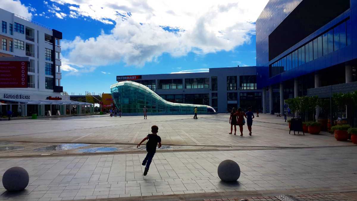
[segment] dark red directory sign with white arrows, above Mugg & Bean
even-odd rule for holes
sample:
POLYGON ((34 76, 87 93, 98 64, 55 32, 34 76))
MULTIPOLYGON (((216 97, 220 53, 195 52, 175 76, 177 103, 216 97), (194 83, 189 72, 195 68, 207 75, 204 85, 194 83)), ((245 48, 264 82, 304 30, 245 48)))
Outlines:
POLYGON ((27 88, 27 62, 0 62, 0 88, 27 88))

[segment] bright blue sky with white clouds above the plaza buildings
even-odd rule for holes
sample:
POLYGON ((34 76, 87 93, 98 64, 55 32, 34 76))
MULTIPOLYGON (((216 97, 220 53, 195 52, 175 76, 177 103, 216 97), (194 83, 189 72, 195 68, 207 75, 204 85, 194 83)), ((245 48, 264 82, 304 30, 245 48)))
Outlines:
POLYGON ((109 93, 116 75, 255 66, 255 21, 268 0, 1 0, 62 32, 64 91, 109 93))

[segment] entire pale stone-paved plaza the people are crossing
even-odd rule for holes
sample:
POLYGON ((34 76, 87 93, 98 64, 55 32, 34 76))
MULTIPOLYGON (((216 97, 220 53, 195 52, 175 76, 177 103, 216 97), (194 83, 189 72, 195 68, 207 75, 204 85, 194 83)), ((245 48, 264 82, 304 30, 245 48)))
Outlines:
POLYGON ((268 200, 281 194, 357 191, 357 146, 350 141, 336 141, 330 133, 289 134, 283 118, 268 114, 254 119, 253 136, 245 126, 243 137, 228 134, 228 114, 198 117, 0 121, 0 175, 13 166, 30 175, 20 193, 6 192, 1 184, 0 200, 260 199, 255 195, 268 200), (145 145, 136 149, 135 143, 154 124, 164 148, 143 176, 145 145), (104 149, 88 151, 94 148, 104 149), (18 157, 26 153, 39 157, 18 157), (217 166, 226 159, 240 165, 237 182, 218 178, 217 166))

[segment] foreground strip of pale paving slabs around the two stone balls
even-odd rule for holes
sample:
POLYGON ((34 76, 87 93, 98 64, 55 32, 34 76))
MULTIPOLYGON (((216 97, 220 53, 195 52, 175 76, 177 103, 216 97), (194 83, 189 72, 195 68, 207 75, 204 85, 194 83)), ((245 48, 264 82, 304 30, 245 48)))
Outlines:
MULTIPOLYGON (((156 153, 143 176, 142 153, 0 158, 0 175, 25 168, 25 191, 0 200, 72 200, 185 193, 357 188, 357 147, 156 153), (237 182, 217 176, 223 160, 241 168, 237 182)), ((0 190, 5 192, 0 185, 0 190)))

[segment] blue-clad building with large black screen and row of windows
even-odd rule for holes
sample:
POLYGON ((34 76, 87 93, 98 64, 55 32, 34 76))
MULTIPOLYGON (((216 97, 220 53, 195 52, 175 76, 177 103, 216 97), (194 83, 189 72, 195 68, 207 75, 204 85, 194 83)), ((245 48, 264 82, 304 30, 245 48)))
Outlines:
POLYGON ((264 112, 307 89, 356 81, 357 1, 270 0, 256 21, 264 112))

